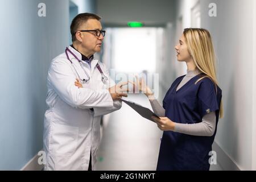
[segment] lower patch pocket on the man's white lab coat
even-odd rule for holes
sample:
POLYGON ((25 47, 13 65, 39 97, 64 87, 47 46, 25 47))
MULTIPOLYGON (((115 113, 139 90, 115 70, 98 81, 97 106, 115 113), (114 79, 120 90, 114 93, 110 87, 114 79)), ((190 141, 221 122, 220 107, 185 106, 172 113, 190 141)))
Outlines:
POLYGON ((70 155, 76 151, 79 128, 52 123, 49 138, 49 152, 70 155))

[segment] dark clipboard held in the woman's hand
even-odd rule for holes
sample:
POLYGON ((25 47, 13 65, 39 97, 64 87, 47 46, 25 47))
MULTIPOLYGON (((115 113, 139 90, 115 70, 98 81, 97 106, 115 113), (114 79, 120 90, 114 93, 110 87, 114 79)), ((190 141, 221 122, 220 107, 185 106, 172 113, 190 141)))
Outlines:
MULTIPOLYGON (((121 99, 121 101, 125 102, 127 105, 129 105, 131 108, 133 108, 137 113, 139 113, 143 118, 146 118, 152 122, 155 122, 151 117, 154 115, 155 117, 159 118, 158 115, 153 113, 150 109, 147 107, 143 107, 139 104, 136 104, 135 102, 126 101, 121 99)), ((160 119, 160 118, 159 118, 160 119)))

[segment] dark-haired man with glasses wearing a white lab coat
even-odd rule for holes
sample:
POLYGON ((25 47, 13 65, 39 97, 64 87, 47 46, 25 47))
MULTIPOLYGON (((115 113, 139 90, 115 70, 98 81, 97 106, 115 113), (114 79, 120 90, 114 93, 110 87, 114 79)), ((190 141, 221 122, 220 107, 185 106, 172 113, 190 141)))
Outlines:
POLYGON ((72 46, 52 60, 47 78, 44 118, 45 170, 94 170, 100 143, 101 115, 121 107, 127 97, 94 59, 104 39, 100 17, 77 15, 71 24, 72 46), (82 88, 75 85, 78 79, 82 88))

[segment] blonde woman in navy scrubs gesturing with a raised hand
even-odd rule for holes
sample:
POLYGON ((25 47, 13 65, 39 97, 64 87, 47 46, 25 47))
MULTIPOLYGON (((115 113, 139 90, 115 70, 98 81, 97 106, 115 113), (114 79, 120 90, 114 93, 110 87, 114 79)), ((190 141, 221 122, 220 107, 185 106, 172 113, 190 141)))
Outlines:
POLYGON ((139 80, 139 89, 149 98, 163 137, 157 170, 209 170, 209 152, 222 117, 221 89, 216 78, 216 58, 207 30, 187 28, 175 47, 177 60, 187 64, 187 75, 172 83, 163 107, 139 80))

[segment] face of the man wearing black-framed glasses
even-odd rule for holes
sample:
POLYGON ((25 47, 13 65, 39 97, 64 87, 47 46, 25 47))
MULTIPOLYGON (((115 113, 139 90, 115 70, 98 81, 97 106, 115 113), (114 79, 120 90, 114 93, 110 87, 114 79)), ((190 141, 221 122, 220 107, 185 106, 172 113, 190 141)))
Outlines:
MULTIPOLYGON (((97 19, 89 19, 83 23, 79 30, 102 30, 101 22, 97 19)), ((97 36, 96 32, 81 32, 82 48, 88 55, 101 51, 101 44, 104 36, 97 36)))

